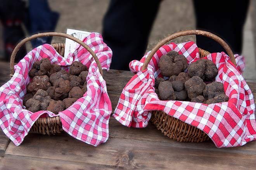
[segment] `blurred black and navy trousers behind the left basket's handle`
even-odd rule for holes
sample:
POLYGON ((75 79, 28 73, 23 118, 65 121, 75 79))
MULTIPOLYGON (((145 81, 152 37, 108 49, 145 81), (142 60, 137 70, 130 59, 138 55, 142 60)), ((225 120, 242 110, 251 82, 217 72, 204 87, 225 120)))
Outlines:
MULTIPOLYGON (((29 0, 28 8, 23 0, 0 0, 5 60, 10 61, 13 49, 19 41, 25 38, 22 24, 31 35, 54 31, 58 19, 59 14, 50 10, 47 0, 29 0)), ((51 41, 52 37, 41 37, 33 39, 31 45, 36 48, 45 43, 50 44, 51 41)), ((26 47, 22 46, 16 55, 15 62, 19 62, 26 54, 26 47)))

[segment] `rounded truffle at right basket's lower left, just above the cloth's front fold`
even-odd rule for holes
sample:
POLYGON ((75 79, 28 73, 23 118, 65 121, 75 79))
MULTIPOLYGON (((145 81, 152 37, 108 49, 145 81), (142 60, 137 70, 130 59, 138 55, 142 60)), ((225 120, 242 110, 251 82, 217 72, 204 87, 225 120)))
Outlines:
POLYGON ((170 81, 164 81, 159 83, 158 86, 159 97, 161 100, 175 100, 176 96, 173 90, 173 85, 170 81))

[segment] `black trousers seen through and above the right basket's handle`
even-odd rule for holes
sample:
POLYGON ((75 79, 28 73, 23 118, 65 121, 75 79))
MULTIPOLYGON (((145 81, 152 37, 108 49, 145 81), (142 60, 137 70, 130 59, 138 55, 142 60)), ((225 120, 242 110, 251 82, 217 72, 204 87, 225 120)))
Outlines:
MULTIPOLYGON (((212 32, 228 43, 234 53, 242 52, 242 32, 249 0, 215 0, 203 3, 194 0, 196 28, 212 32)), ((217 42, 196 36, 197 46, 211 53, 225 51, 217 42)))

